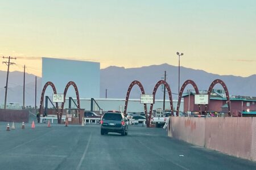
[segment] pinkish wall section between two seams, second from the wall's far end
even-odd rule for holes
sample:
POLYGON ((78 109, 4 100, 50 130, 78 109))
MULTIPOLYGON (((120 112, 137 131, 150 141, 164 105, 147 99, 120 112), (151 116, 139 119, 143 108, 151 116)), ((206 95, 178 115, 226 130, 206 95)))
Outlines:
POLYGON ((252 121, 251 117, 205 118, 205 147, 250 159, 252 121))

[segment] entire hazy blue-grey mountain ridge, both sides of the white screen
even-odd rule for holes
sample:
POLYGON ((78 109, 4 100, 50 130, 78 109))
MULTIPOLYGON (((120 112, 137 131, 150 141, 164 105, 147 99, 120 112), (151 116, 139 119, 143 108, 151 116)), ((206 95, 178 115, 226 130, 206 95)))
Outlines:
MULTIPOLYGON (((101 82, 100 82, 100 97, 105 98, 105 92, 107 89, 108 98, 121 98, 125 99, 127 89, 133 80, 139 80, 143 84, 146 94, 152 94, 155 84, 163 79, 164 71, 167 72, 167 83, 171 87, 172 98, 177 99, 178 92, 178 67, 168 65, 166 63, 162 65, 143 66, 139 68, 125 69, 125 67, 110 66, 105 69, 101 69, 101 82)), ((0 71, 0 103, 5 100, 5 85, 6 85, 6 71, 0 71)), ((218 75, 207 73, 203 70, 189 69, 186 67, 180 67, 180 87, 185 80, 191 79, 196 84, 199 90, 208 90, 210 83, 215 79, 221 79, 228 87, 230 95, 240 96, 256 96, 256 74, 241 77, 234 75, 218 75)), ((25 104, 35 105, 35 75, 26 74, 26 89, 25 89, 25 104)), ((41 93, 41 78, 37 79, 37 103, 40 102, 41 93)), ((9 74, 9 91, 7 95, 7 101, 14 103, 23 103, 23 73, 14 71, 9 74)), ((220 85, 214 88, 222 87, 220 85)), ((191 85, 185 88, 184 93, 187 90, 193 89, 191 85)), ((131 90, 130 98, 139 99, 141 90, 139 87, 131 90)), ((80 96, 83 97, 83 96, 80 96)), ((159 87, 156 92, 156 99, 163 99, 163 91, 159 87)), ((166 95, 168 99, 168 95, 166 95)))

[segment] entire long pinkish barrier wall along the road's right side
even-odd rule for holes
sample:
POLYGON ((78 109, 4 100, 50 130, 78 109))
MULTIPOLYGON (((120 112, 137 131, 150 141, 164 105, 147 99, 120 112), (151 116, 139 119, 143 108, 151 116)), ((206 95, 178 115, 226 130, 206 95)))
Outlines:
POLYGON ((171 117, 168 136, 256 161, 256 117, 171 117))

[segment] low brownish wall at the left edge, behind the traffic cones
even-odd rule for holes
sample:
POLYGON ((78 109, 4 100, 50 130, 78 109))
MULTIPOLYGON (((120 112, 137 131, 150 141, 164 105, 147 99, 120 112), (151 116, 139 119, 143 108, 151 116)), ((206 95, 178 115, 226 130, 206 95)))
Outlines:
POLYGON ((3 122, 28 122, 27 110, 0 109, 0 121, 3 122))

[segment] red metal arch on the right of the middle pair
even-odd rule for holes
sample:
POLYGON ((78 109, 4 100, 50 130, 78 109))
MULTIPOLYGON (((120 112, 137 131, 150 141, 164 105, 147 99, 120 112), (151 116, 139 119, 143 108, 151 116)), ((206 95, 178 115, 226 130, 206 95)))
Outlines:
MULTIPOLYGON (((174 107, 173 107, 173 103, 172 103, 172 92, 171 92, 171 88, 170 88, 169 84, 168 84, 166 81, 160 80, 158 83, 156 83, 152 95, 154 95, 154 99, 155 99, 156 90, 158 90, 158 87, 159 87, 161 84, 164 84, 164 85, 166 86, 166 88, 167 88, 167 91, 168 91, 168 94, 169 94, 169 99, 170 99, 171 112, 172 112, 172 114, 174 114, 174 107)), ((151 120, 153 105, 154 105, 154 104, 150 104, 150 116, 148 117, 148 124, 147 124, 147 127, 150 126, 150 120, 151 120)))

